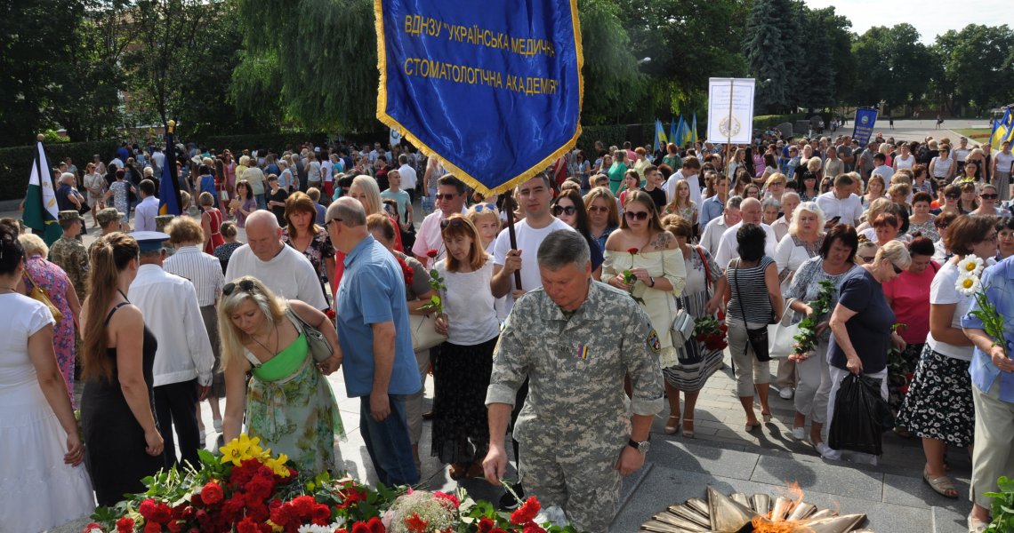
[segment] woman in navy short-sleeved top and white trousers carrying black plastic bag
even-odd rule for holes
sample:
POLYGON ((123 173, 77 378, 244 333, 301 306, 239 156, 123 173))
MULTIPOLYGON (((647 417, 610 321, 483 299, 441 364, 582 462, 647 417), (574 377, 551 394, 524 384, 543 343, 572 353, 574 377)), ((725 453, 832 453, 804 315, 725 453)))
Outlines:
MULTIPOLYGON (((850 372, 879 379, 880 395, 884 401, 887 400, 889 342, 893 341, 903 351, 904 340, 891 332, 894 311, 887 303, 882 284, 897 278, 911 262, 912 257, 904 244, 892 240, 877 250, 872 262, 852 271, 842 281, 838 305, 828 323, 831 337, 827 363, 831 387, 826 420, 831 425, 838 389, 850 372)), ((821 455, 826 459, 840 459, 842 452, 828 447, 821 455)), ((853 460, 873 465, 877 463, 875 455, 859 452, 853 453, 853 460)))

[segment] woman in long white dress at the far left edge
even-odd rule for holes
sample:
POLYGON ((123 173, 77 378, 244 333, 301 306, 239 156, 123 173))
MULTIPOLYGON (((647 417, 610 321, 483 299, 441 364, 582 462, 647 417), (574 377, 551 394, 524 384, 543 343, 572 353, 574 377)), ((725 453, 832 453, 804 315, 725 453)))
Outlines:
POLYGON ((24 250, 0 224, 0 516, 4 531, 42 531, 92 512, 84 445, 53 350, 53 315, 17 290, 24 250))

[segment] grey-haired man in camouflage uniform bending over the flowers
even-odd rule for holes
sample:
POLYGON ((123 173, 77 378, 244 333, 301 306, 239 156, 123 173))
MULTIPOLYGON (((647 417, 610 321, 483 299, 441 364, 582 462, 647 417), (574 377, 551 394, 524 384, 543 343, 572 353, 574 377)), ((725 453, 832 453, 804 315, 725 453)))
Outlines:
POLYGON ((514 305, 495 352, 483 466, 499 483, 515 391, 527 377, 514 429, 525 490, 544 507, 563 508, 579 531, 605 532, 622 476, 644 465, 651 422, 662 409, 658 335, 628 294, 591 280, 588 244, 578 233, 551 233, 537 260, 542 288, 514 305))

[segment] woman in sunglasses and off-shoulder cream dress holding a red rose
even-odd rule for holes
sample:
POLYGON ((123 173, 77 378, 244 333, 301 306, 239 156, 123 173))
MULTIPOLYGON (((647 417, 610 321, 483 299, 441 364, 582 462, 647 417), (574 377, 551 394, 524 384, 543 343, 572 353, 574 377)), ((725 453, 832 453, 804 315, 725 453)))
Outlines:
POLYGON ((658 333, 661 367, 675 365, 669 326, 676 313, 673 298, 686 283, 686 265, 676 238, 662 228, 647 193, 634 191, 628 197, 620 229, 605 241, 602 280, 638 300, 658 333))

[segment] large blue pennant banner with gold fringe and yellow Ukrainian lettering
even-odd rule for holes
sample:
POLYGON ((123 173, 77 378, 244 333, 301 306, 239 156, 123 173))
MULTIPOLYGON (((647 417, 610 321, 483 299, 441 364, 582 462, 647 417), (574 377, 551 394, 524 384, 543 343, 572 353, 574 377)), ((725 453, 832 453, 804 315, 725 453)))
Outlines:
POLYGON ((377 119, 484 194, 581 135, 576 0, 374 0, 377 119))

